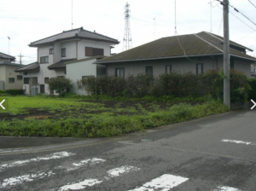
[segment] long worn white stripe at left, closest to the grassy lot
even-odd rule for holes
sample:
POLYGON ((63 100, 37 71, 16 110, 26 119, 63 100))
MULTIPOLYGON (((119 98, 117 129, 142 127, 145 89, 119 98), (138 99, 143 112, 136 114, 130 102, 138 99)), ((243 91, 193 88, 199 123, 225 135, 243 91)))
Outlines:
POLYGON ((4 164, 0 165, 0 171, 3 171, 7 168, 14 167, 17 165, 24 165, 26 163, 32 162, 32 161, 40 161, 40 160, 48 160, 48 159, 61 159, 65 157, 69 157, 75 155, 75 153, 67 153, 67 152, 59 152, 59 153, 52 153, 49 155, 45 155, 44 157, 38 157, 38 158, 33 158, 33 159, 25 159, 25 160, 18 160, 10 164, 4 164))

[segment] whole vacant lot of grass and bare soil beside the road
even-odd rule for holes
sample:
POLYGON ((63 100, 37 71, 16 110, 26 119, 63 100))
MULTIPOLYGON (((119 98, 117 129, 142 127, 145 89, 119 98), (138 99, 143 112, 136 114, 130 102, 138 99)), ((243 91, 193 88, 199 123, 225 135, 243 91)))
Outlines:
POLYGON ((5 96, 0 136, 118 136, 224 113, 218 101, 96 101, 50 96, 5 96))

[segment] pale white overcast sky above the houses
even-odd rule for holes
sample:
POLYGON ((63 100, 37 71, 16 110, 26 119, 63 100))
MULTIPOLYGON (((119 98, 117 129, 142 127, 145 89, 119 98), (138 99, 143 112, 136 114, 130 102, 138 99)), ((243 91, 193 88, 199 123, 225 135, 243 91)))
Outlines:
MULTIPOLYGON (((0 52, 22 57, 22 64, 36 61, 37 48, 28 44, 72 29, 72 0, 0 0, 0 52), (10 40, 7 38, 9 37, 10 40)), ((73 28, 99 32, 119 40, 113 53, 122 51, 125 0, 73 0, 73 28)), ((223 10, 218 1, 177 0, 177 34, 207 31, 223 36, 223 10), (211 29, 212 10, 212 29, 211 29)), ((132 47, 173 36, 174 0, 129 0, 132 47), (155 38, 154 19, 155 18, 155 38)), ((256 0, 230 0, 230 5, 256 23, 256 0), (251 3, 250 3, 251 2, 251 3)), ((256 25, 230 8, 230 40, 256 55, 256 25)))

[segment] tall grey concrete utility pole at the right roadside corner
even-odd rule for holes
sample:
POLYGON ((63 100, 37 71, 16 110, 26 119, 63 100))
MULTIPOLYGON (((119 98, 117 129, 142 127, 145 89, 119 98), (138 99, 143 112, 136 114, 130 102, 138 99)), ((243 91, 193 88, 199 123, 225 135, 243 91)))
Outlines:
POLYGON ((230 26, 229 26, 229 0, 223 3, 224 23, 224 104, 230 108, 230 26))

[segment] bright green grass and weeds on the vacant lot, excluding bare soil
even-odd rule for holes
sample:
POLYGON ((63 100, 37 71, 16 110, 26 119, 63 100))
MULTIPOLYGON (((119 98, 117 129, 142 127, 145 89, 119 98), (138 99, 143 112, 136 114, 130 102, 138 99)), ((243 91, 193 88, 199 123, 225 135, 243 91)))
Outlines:
MULTIPOLYGON (((205 98, 207 99, 207 98, 205 98)), ((208 98, 210 99, 210 98, 208 98)), ((117 105, 109 110, 102 103, 78 101, 71 98, 51 98, 48 96, 9 97, 10 108, 26 111, 26 107, 48 108, 57 113, 69 113, 67 117, 52 119, 14 119, 0 120, 0 136, 53 136, 53 137, 104 137, 119 136, 125 133, 141 131, 156 126, 172 124, 189 119, 228 111, 224 104, 218 101, 207 101, 201 105, 176 104, 166 109, 154 107, 154 112, 148 112, 143 104, 127 108, 117 105), (20 102, 20 105, 17 104, 20 102), (24 104, 24 105, 22 105, 24 104), (98 113, 74 113, 75 109, 106 110, 98 113), (128 115, 113 115, 116 111, 130 111, 128 115)), ((124 106, 124 105, 123 105, 124 106)), ((145 106, 145 105, 144 105, 145 106)), ((1 114, 1 113, 0 113, 1 114)), ((1 116, 1 115, 0 115, 1 116)))

